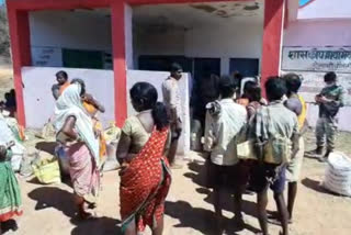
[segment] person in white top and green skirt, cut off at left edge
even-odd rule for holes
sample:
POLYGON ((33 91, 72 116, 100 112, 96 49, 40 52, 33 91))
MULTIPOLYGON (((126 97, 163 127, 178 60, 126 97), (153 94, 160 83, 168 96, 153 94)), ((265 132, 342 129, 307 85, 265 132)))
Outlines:
MULTIPOLYGON (((0 235, 1 226, 15 215, 22 215, 21 192, 11 166, 12 149, 15 149, 15 137, 0 114, 0 235)), ((13 230, 16 230, 14 223, 13 230)))

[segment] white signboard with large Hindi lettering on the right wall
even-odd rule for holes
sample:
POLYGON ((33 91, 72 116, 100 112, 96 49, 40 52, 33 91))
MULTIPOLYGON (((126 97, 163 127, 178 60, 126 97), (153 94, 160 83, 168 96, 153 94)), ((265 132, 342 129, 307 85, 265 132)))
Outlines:
POLYGON ((283 47, 282 70, 351 74, 351 46, 283 47))

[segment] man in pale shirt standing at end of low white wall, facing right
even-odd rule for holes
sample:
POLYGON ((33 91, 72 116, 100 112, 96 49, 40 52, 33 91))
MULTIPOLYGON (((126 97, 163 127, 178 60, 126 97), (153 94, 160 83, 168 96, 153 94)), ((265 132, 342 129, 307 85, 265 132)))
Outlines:
MULTIPOLYGON (((182 134, 182 107, 181 96, 179 90, 179 80, 182 78, 183 69, 179 64, 172 64, 170 68, 170 77, 162 83, 163 102, 171 119, 171 134, 172 134, 172 146, 170 149, 177 152, 179 138, 182 134)), ((170 165, 173 169, 182 168, 181 165, 176 164, 176 153, 169 154, 171 156, 170 165)))

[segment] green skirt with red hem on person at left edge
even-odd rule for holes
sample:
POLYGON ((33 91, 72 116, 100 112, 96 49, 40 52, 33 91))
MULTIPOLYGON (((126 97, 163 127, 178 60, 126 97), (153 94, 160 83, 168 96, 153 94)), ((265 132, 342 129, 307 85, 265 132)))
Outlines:
MULTIPOLYGON (((9 149, 13 144, 0 145, 0 235, 4 222, 9 222, 14 215, 22 214, 20 187, 8 160, 11 155, 9 149)), ((14 225, 13 230, 16 228, 14 225)))

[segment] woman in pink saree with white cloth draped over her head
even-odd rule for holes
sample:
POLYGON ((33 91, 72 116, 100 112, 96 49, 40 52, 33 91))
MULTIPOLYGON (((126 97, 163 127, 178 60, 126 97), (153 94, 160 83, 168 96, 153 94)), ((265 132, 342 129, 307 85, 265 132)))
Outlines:
POLYGON ((54 123, 57 141, 67 148, 75 201, 83 220, 94 216, 100 190, 99 139, 82 104, 84 91, 84 83, 73 83, 63 92, 56 102, 54 123))

